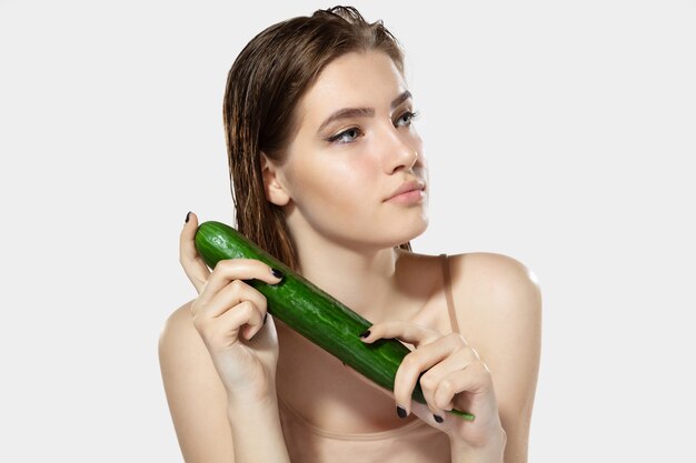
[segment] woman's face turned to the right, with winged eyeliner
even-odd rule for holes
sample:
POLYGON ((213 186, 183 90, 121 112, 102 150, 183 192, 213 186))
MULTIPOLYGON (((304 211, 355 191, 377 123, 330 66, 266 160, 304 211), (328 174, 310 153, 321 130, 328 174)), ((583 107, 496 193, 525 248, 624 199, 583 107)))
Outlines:
POLYGON ((386 53, 348 53, 324 69, 297 108, 278 170, 294 235, 387 248, 425 231, 428 173, 412 114, 386 53))

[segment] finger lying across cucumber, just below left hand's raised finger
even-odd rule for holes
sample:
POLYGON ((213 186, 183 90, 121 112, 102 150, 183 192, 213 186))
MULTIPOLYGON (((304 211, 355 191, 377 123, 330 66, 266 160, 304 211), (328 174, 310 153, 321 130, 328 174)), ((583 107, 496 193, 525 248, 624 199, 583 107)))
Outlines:
POLYGON ((282 273, 256 259, 228 259, 218 262, 208 278, 200 303, 205 306, 222 288, 235 280, 260 280, 268 284, 278 284, 282 273))

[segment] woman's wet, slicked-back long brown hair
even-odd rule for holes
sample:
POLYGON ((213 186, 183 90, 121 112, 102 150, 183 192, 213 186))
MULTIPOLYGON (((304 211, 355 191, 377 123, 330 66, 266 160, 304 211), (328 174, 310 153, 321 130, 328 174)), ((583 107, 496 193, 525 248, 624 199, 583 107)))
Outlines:
MULTIPOLYGON (((237 230, 291 269, 298 259, 282 210, 266 199, 261 152, 281 164, 300 98, 332 60, 351 51, 387 53, 401 74, 404 53, 381 21, 352 7, 318 10, 256 36, 227 77, 223 120, 237 230)), ((410 251, 410 243, 400 248, 410 251)))

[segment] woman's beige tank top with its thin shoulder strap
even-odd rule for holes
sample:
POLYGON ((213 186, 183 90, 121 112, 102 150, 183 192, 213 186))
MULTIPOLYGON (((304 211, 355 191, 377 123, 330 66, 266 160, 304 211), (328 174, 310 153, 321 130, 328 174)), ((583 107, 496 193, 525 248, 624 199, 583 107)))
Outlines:
MULTIPOLYGON (((453 332, 459 333, 447 255, 440 254, 440 260, 449 321, 453 332)), ((294 463, 450 462, 447 434, 421 420, 382 432, 337 434, 314 426, 280 396, 278 407, 286 445, 294 463)))

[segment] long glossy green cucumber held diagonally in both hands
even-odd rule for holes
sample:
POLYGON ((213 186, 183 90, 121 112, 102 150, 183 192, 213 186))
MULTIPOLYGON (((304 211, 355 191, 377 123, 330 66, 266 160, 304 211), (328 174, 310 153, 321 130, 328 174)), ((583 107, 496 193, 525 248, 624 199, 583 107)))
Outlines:
MULTIPOLYGON (((394 379, 410 350, 397 340, 382 339, 371 344, 360 341, 360 334, 372 323, 348 309, 314 283, 261 250, 233 228, 215 221, 203 222, 196 232, 196 249, 211 269, 227 259, 256 259, 285 273, 276 285, 259 280, 247 281, 266 296, 268 312, 307 338, 319 348, 341 360, 355 371, 394 391, 394 379)), ((412 399, 426 400, 417 383, 412 399)), ((451 413, 474 420, 470 413, 451 413)))

